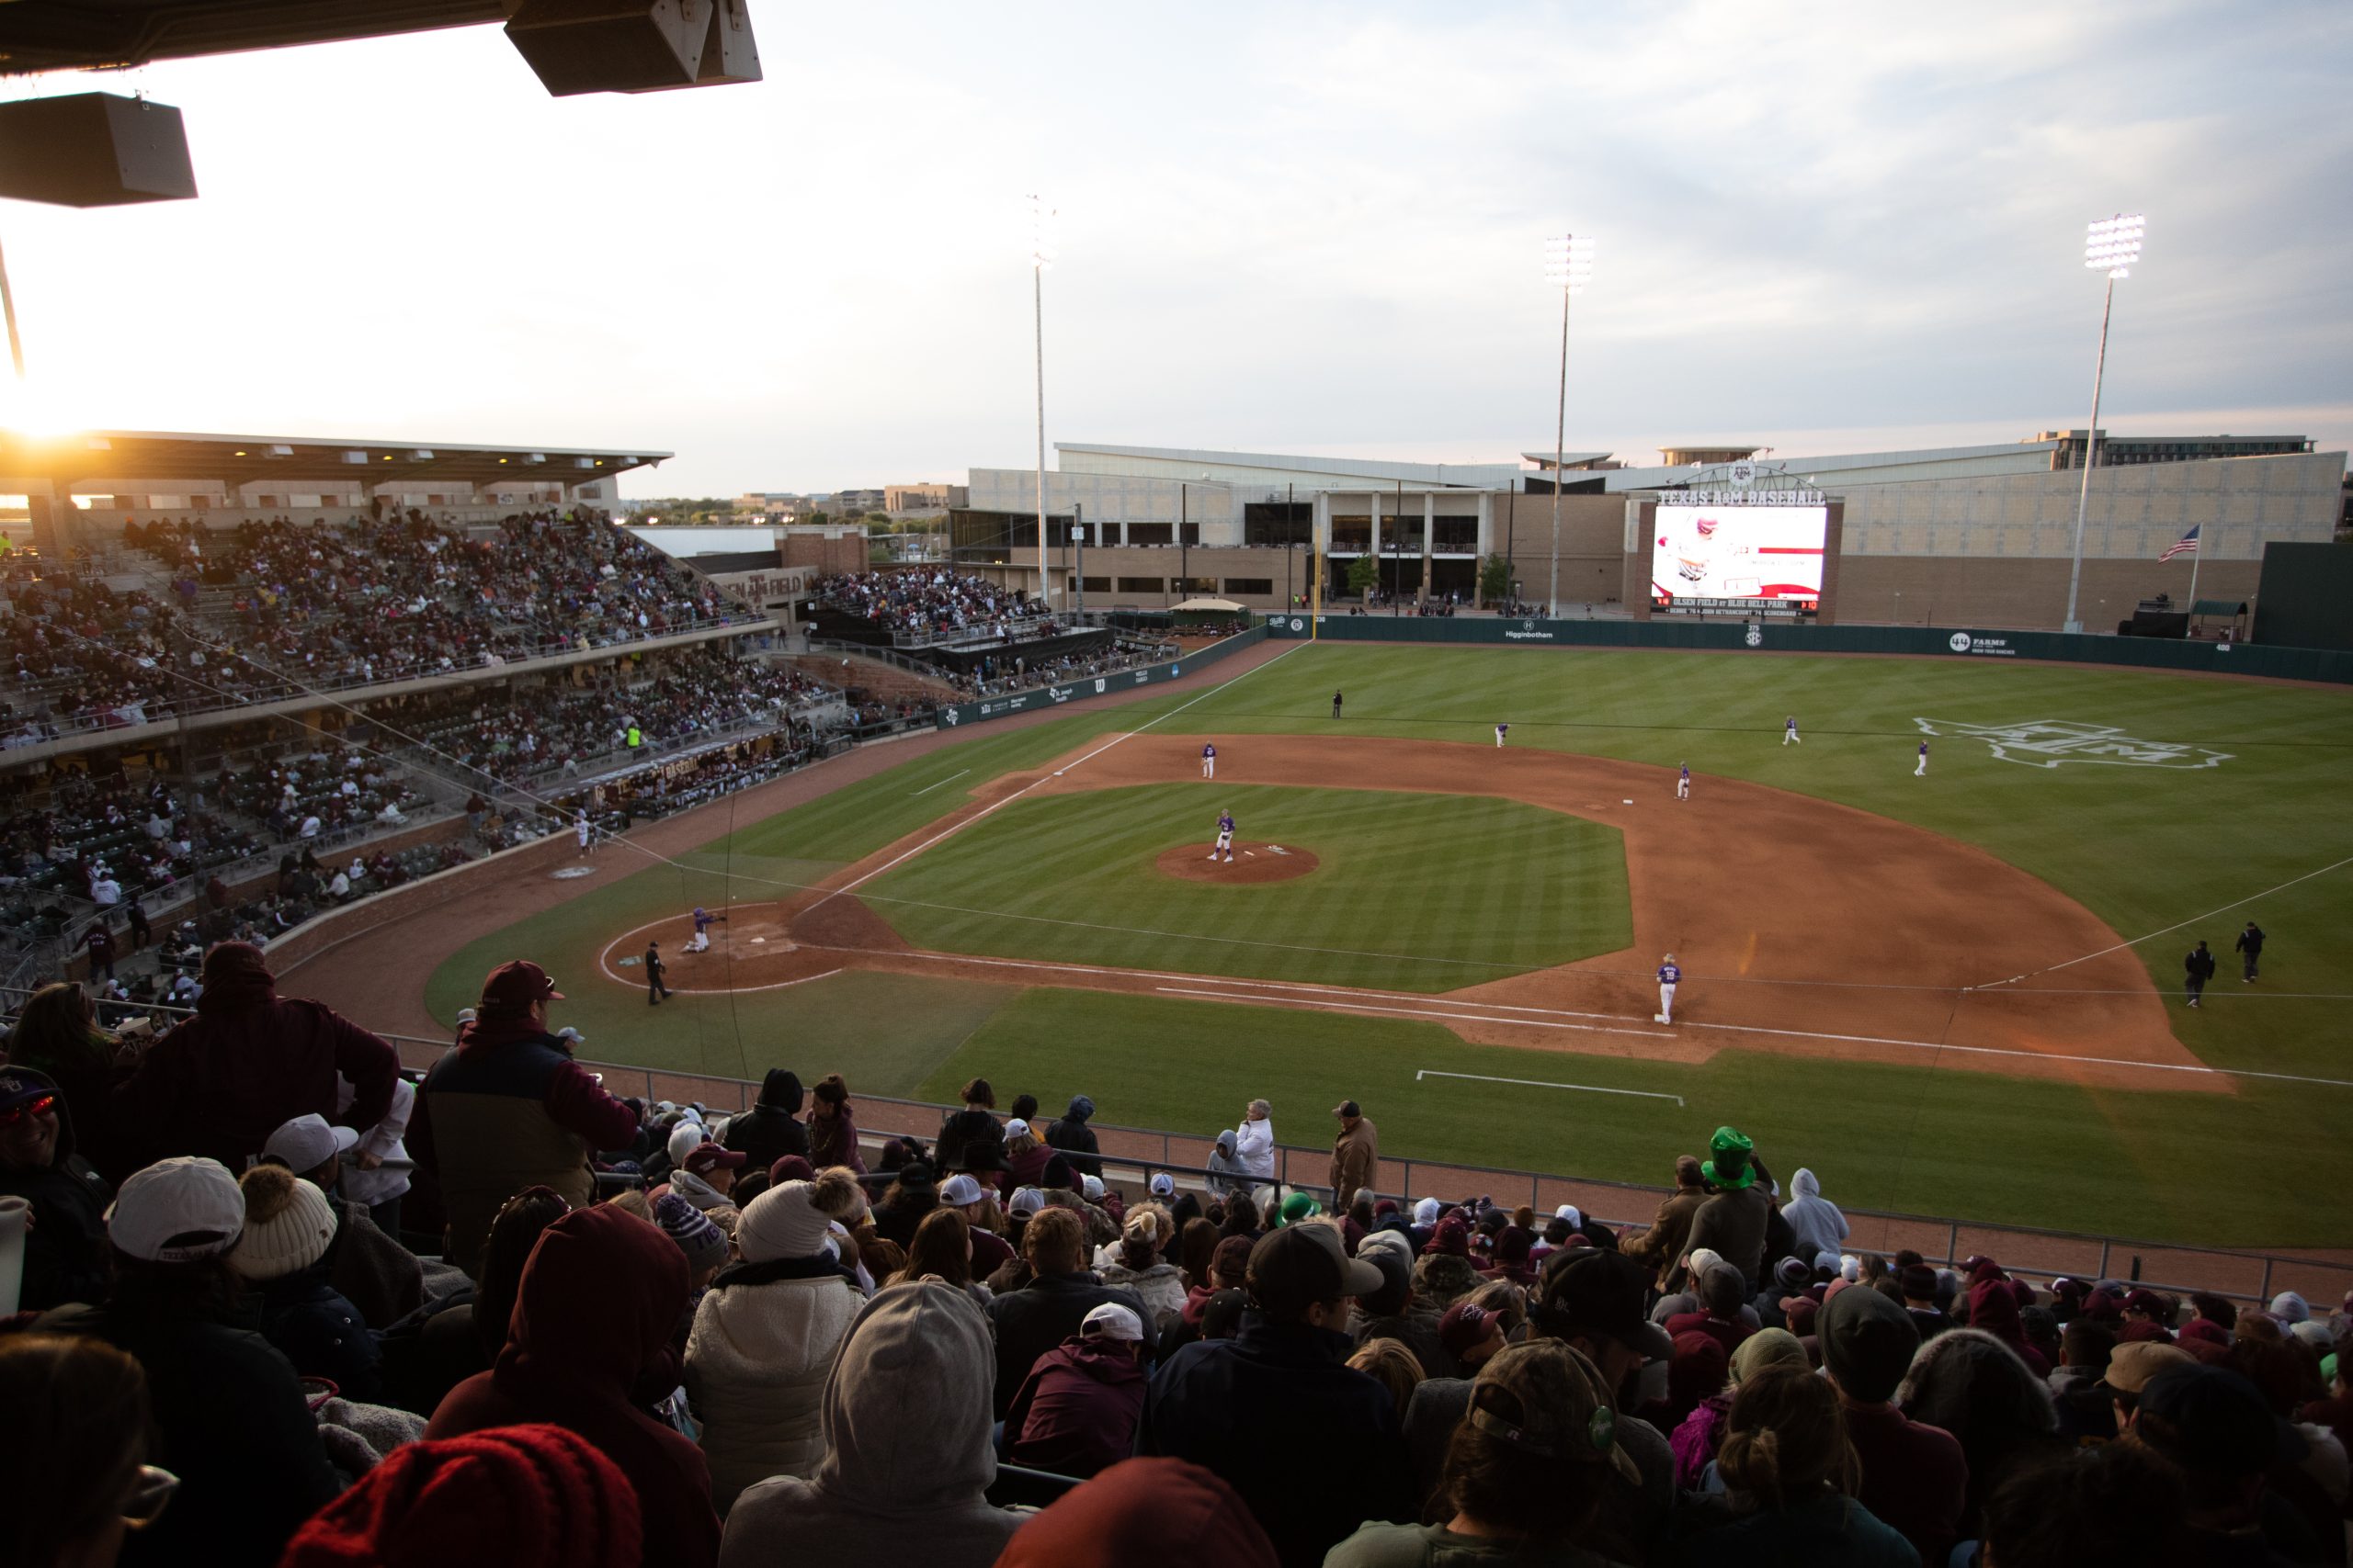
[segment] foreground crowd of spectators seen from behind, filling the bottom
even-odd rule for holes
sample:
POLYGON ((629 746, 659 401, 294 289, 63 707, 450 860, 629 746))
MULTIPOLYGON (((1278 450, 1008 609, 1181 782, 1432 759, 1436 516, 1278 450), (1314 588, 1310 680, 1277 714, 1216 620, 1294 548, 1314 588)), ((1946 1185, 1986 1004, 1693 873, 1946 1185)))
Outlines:
POLYGON ((7 1039, 9 1561, 2346 1561, 2353 1300, 1842 1251, 1734 1128, 1635 1227, 1377 1197, 1355 1103, 1325 1187, 1257 1100, 1129 1192, 1087 1095, 614 1098, 527 961, 421 1084, 247 945, 200 987, 7 1039))

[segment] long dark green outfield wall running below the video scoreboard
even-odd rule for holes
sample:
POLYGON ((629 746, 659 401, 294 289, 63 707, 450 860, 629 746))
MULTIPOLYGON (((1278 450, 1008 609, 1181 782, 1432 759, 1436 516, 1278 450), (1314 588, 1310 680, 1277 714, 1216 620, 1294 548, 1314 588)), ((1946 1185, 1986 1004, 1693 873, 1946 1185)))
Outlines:
MULTIPOLYGON (((1266 635, 1301 639, 1308 616, 1268 616, 1266 635)), ((2353 654, 2280 649, 2257 642, 2177 642, 2165 637, 2068 637, 1941 625, 1795 625, 1788 621, 1508 621, 1501 616, 1332 616, 1325 642, 1445 642, 1586 649, 1699 649, 1737 654, 1920 654, 1932 658, 2052 658, 2353 684, 2353 654)))

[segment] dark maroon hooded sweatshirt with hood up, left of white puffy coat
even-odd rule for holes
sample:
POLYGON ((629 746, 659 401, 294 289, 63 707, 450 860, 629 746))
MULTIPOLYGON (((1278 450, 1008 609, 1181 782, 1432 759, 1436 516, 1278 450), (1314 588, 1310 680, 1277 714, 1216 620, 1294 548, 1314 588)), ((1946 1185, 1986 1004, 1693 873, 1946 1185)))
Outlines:
POLYGON ((704 1453, 631 1401, 685 1309, 687 1258, 675 1241, 621 1208, 574 1208, 522 1265, 499 1363, 449 1389, 426 1436, 567 1427, 635 1483, 647 1568, 708 1568, 720 1521, 704 1453))

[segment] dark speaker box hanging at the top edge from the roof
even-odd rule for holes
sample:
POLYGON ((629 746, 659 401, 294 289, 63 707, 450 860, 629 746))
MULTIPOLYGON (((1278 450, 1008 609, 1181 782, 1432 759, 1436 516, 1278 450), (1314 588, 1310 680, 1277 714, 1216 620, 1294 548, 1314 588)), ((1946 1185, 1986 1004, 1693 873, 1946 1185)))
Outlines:
POLYGON ((558 99, 760 80, 744 0, 522 0, 506 35, 558 99))

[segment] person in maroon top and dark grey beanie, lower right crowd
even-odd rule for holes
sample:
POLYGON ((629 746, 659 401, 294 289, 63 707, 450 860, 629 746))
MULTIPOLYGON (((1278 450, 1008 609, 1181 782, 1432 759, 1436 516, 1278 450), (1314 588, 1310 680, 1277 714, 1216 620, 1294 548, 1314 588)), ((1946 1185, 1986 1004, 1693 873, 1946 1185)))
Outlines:
POLYGON ((1941 1563, 1958 1540, 1969 1497, 1969 1462, 1941 1427, 1906 1420, 1889 1403, 1920 1349, 1913 1314, 1864 1286, 1847 1286, 1821 1309, 1821 1361, 1847 1410, 1847 1439, 1864 1462, 1854 1493, 1894 1526, 1922 1563, 1941 1563))

